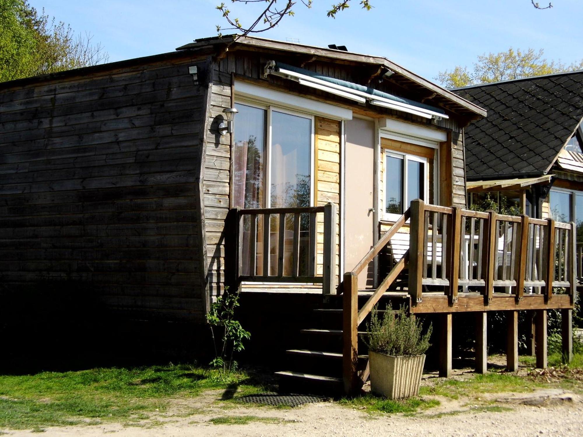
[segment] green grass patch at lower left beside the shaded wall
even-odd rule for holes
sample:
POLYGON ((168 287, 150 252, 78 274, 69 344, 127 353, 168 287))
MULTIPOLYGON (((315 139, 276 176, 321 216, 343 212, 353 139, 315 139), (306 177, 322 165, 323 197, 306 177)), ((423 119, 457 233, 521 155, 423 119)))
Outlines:
POLYGON ((245 373, 222 380, 216 371, 189 365, 0 376, 0 429, 138 422, 166 410, 169 397, 233 387, 252 391, 247 382, 245 373))

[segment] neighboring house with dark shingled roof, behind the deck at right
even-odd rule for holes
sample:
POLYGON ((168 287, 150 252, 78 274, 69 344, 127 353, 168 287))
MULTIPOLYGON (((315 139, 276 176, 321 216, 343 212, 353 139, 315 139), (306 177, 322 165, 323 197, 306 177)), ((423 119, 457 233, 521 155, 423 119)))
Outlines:
POLYGON ((581 258, 583 71, 453 91, 488 111, 465 129, 468 204, 490 196, 501 209, 574 221, 581 258))

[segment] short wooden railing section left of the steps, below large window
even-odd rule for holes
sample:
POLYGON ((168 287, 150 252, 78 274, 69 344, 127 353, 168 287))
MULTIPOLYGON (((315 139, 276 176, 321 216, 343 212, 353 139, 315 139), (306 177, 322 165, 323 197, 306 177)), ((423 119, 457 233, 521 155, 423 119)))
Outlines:
POLYGON ((240 209, 237 217, 238 281, 321 283, 324 294, 332 293, 336 283, 333 203, 240 209))

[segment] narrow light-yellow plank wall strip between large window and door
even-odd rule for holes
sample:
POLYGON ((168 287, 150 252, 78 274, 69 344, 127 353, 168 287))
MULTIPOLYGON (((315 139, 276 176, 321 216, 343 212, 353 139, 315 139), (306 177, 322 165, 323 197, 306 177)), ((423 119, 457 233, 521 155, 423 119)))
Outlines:
MULTIPOLYGON (((340 273, 340 135, 339 121, 315 117, 315 205, 336 204, 336 272, 340 273)), ((324 271, 324 214, 318 214, 316 273, 324 271)))

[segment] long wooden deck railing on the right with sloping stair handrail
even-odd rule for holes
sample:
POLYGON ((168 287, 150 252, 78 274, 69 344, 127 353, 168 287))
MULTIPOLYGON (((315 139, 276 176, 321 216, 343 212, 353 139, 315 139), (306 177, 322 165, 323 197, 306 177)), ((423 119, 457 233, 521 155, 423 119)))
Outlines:
MULTIPOLYGON (((403 231, 402 231, 403 232, 403 231)), ((401 233, 399 233, 401 235, 401 233)), ((449 306, 462 291, 479 291, 484 309, 494 298, 494 287, 514 294, 516 302, 526 294, 553 297, 554 287, 568 288, 571 305, 577 286, 575 224, 540 220, 526 215, 507 216, 494 211, 476 212, 460 207, 428 205, 413 200, 409 210, 381 236, 378 243, 344 276, 344 350, 345 390, 354 392, 364 380, 366 370, 357 372, 357 329, 391 286, 408 267, 408 294, 411 305, 422 302, 423 287, 442 289, 449 306), (371 260, 406 226, 409 220, 409 249, 395 259, 395 265, 362 308, 358 308, 358 275, 371 260), (442 287, 442 288, 440 288, 442 287)), ((395 240, 400 246, 403 239, 395 240)), ((583 256, 583 251, 579 252, 583 256)), ((484 310, 485 311, 485 310, 484 310)))

